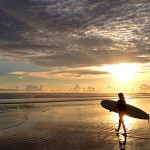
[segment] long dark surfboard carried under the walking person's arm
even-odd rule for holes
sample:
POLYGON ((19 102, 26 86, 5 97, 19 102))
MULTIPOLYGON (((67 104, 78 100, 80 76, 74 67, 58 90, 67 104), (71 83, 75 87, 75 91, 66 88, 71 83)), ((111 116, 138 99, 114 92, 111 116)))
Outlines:
MULTIPOLYGON (((101 106, 107 110, 112 110, 117 104, 117 101, 113 101, 113 100, 102 100, 101 101, 101 106)), ((114 112, 118 113, 118 109, 113 110, 114 112)), ((129 117, 133 117, 133 118, 137 118, 137 119, 148 119, 149 120, 149 115, 143 111, 140 108, 137 108, 135 106, 126 104, 126 111, 125 111, 125 115, 129 116, 129 117)))

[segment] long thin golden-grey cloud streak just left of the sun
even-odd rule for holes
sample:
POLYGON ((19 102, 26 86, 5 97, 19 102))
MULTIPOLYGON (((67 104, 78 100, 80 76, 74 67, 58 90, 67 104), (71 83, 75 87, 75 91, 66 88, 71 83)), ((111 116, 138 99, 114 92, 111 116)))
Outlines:
POLYGON ((102 78, 104 75, 109 74, 105 71, 90 70, 87 69, 66 69, 66 70, 53 70, 43 72, 11 72, 11 75, 19 77, 34 77, 45 79, 90 79, 90 78, 102 78))

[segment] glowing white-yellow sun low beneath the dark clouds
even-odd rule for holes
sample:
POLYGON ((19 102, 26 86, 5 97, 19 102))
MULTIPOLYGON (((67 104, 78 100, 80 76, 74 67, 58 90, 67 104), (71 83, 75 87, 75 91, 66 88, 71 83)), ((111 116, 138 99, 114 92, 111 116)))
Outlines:
POLYGON ((137 64, 132 63, 106 65, 103 69, 110 72, 112 77, 119 82, 130 82, 134 80, 138 70, 137 64))

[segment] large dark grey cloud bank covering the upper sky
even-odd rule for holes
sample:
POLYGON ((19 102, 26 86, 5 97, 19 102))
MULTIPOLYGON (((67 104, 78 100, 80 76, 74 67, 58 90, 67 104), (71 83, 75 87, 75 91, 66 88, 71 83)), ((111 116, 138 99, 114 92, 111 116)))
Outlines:
POLYGON ((0 60, 48 67, 150 62, 149 10, 148 0, 0 0, 0 60))

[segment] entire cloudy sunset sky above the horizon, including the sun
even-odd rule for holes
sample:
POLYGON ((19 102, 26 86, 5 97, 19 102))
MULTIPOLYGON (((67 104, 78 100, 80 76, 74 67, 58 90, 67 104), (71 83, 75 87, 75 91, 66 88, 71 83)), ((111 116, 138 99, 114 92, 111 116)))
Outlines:
POLYGON ((0 90, 150 92, 149 0, 0 0, 0 90))

